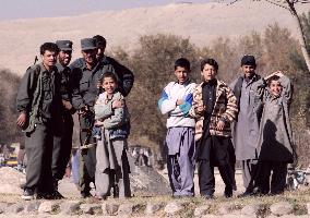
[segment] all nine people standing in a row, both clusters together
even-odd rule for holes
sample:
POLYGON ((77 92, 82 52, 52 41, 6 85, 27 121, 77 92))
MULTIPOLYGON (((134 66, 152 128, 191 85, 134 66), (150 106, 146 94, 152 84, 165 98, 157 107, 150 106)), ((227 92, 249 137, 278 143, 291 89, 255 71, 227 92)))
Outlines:
MULTIPOLYGON (((124 97, 133 73, 105 56, 106 40, 81 39, 82 58, 70 64, 72 41, 40 46, 41 62, 29 66, 16 97, 17 125, 25 133, 27 155, 23 199, 62 198, 58 182, 65 173, 72 148, 73 119, 80 121, 82 197, 130 197, 127 138, 130 114, 124 97)), ((190 62, 175 62, 170 82, 158 101, 167 119, 167 167, 175 197, 193 196, 198 166, 200 194, 213 198, 214 167, 225 183, 226 197, 236 190, 235 162, 242 164, 246 192, 241 196, 278 194, 285 189, 293 161, 289 105, 291 84, 282 72, 255 73, 255 59, 241 59, 239 76, 229 86, 216 78, 214 59, 201 61, 202 83, 191 82, 190 62), (231 131, 233 130, 233 131, 231 131), (270 182, 270 175, 272 180, 270 182)))

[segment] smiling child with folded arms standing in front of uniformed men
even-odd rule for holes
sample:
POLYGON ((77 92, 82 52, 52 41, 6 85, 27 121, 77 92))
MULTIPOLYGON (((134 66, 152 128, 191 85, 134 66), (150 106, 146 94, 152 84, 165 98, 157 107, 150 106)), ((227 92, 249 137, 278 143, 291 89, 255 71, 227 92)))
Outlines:
POLYGON ((123 96, 116 90, 117 78, 114 73, 105 73, 100 83, 105 92, 99 95, 94 107, 95 125, 102 126, 102 138, 98 138, 96 148, 96 197, 105 199, 112 186, 119 197, 130 197, 130 170, 126 152, 130 131, 128 108, 123 96), (122 105, 119 106, 119 102, 122 105))

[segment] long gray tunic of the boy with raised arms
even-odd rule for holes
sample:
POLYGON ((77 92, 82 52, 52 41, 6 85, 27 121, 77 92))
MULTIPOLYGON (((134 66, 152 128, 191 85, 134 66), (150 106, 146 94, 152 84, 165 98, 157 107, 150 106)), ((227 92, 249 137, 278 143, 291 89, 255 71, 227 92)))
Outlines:
MULTIPOLYGON (((274 97, 269 87, 261 85, 258 96, 262 99, 257 109, 263 108, 258 141, 260 160, 293 162, 293 138, 289 121, 289 107, 291 102, 293 85, 287 76, 282 76, 282 95, 274 97)), ((263 84, 262 81, 260 81, 263 84)))

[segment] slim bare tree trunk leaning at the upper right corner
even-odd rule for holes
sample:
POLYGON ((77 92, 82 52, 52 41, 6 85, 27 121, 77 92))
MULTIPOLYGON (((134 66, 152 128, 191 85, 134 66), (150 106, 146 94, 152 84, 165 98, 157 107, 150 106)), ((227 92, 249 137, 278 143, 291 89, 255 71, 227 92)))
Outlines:
POLYGON ((290 2, 289 0, 286 0, 286 2, 289 5, 290 12, 291 12, 294 20, 295 20, 295 23, 297 25, 297 31, 298 31, 297 36, 298 36, 298 39, 299 39, 299 44, 301 46, 301 52, 302 52, 302 56, 305 58, 305 61, 306 61, 306 64, 307 64, 307 68, 308 68, 308 72, 310 72, 310 55, 307 51, 306 37, 305 37, 305 33, 303 33, 303 28, 302 28, 300 19, 298 16, 297 12, 296 12, 294 3, 290 2))

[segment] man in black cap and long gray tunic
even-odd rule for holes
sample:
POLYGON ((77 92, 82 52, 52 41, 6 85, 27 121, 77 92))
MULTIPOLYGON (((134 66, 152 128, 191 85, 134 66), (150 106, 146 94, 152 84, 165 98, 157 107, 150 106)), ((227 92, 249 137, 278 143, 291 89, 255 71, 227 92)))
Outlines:
POLYGON ((235 80, 230 87, 237 97, 239 113, 233 128, 233 141, 236 159, 241 160, 242 178, 246 192, 240 196, 253 194, 253 175, 258 162, 257 145, 261 116, 254 109, 257 82, 261 78, 255 73, 257 62, 253 56, 241 59, 242 76, 235 80))

